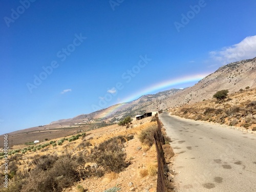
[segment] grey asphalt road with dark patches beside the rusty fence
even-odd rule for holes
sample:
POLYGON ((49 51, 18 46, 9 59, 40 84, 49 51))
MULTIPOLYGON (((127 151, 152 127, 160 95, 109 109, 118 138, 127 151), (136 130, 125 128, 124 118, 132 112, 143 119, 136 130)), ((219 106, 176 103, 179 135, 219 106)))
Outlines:
POLYGON ((178 191, 256 191, 256 135, 159 115, 176 154, 178 191))

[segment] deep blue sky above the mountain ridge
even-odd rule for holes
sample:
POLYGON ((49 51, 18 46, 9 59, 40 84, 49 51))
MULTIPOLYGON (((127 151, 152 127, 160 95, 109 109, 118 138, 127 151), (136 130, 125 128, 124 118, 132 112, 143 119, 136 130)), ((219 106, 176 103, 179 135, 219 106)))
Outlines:
POLYGON ((255 57, 255 6, 253 0, 1 1, 0 134, 193 86, 193 76, 255 57), (181 80, 150 89, 172 79, 181 80))

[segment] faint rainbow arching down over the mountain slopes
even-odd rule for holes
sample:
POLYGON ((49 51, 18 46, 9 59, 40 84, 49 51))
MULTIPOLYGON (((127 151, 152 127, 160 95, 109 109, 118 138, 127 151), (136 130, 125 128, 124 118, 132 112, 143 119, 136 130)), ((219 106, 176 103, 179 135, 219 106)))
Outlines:
POLYGON ((122 106, 124 106, 126 104, 126 102, 130 102, 135 99, 138 99, 142 95, 147 95, 147 94, 150 94, 150 93, 162 90, 162 89, 167 90, 167 88, 170 88, 172 86, 177 86, 179 84, 184 84, 184 83, 188 83, 188 82, 196 82, 196 81, 203 79, 207 75, 208 75, 208 73, 207 74, 197 74, 197 75, 179 77, 176 79, 168 79, 166 81, 153 84, 150 87, 147 87, 147 88, 142 89, 132 95, 127 96, 126 98, 122 99, 119 104, 111 106, 108 109, 108 111, 106 113, 104 113, 104 117, 108 117, 111 114, 114 114, 118 110, 122 109, 122 106))

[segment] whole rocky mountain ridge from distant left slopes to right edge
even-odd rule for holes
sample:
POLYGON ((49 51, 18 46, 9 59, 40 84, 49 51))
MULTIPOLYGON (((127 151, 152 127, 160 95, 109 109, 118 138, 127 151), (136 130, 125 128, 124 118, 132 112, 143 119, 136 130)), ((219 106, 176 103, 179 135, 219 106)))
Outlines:
MULTIPOLYGON (((229 93, 240 89, 256 87, 256 57, 253 59, 232 62, 209 74, 193 87, 183 90, 171 89, 157 94, 143 95, 140 98, 120 103, 91 114, 79 115, 67 119, 67 122, 88 120, 119 120, 125 116, 135 116, 148 111, 167 110, 176 105, 202 101, 212 98, 219 90, 227 89, 229 93)), ((61 120, 63 122, 63 120, 61 120)), ((52 122, 57 123, 57 121, 52 122)))

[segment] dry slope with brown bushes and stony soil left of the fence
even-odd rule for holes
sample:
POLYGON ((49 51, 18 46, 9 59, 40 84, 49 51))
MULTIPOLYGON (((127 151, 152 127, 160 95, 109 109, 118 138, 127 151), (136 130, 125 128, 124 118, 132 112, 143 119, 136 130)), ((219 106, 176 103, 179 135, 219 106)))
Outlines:
POLYGON ((156 149, 152 135, 142 134, 156 129, 151 119, 16 148, 0 191, 155 191, 156 149))

